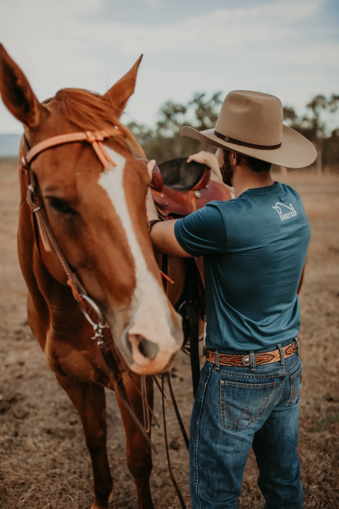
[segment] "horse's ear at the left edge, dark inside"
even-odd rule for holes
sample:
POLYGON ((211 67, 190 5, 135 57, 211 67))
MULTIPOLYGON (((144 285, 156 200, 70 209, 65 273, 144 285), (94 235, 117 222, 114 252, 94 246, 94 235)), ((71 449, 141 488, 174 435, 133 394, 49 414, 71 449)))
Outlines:
POLYGON ((20 122, 30 129, 39 127, 43 106, 34 95, 25 75, 2 44, 0 44, 0 95, 5 106, 20 122))

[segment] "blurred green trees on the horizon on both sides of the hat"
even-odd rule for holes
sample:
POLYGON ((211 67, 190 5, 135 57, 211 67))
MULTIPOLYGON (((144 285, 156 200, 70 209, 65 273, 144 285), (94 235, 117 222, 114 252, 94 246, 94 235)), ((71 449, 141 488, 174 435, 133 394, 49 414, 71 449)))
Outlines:
MULTIPOLYGON (((154 128, 130 122, 128 127, 137 137, 149 159, 161 163, 175 157, 184 157, 199 150, 214 152, 215 148, 193 138, 181 138, 180 131, 188 125, 202 131, 211 129, 217 122, 222 93, 207 97, 196 93, 187 103, 165 102, 159 110, 159 119, 154 128)), ((333 114, 339 107, 339 95, 315 96, 306 104, 306 112, 298 116, 291 106, 284 106, 285 123, 303 134, 316 147, 318 157, 315 167, 321 172, 324 167, 339 167, 339 128, 328 132, 322 120, 324 112, 333 114)))

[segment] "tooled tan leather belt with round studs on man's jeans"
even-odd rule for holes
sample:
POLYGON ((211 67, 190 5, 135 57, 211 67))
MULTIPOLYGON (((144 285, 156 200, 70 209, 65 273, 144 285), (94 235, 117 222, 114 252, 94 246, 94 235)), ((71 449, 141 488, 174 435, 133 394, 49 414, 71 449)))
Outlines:
MULTIPOLYGON (((290 357, 298 351, 298 344, 293 340, 289 345, 283 348, 284 358, 290 357)), ((280 350, 272 350, 271 352, 262 352, 254 354, 256 365, 270 364, 281 360, 280 350)), ((206 359, 208 362, 215 364, 215 352, 207 349, 206 359)), ((250 354, 226 354, 218 353, 219 364, 222 366, 251 366, 250 354)))

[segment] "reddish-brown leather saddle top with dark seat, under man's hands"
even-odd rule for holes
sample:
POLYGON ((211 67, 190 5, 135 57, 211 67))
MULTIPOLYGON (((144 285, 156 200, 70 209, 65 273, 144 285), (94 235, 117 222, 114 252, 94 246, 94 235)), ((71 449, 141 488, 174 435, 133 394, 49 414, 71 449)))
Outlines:
POLYGON ((161 219, 187 216, 212 200, 230 200, 229 189, 210 180, 210 169, 186 157, 155 165, 150 184, 161 219))

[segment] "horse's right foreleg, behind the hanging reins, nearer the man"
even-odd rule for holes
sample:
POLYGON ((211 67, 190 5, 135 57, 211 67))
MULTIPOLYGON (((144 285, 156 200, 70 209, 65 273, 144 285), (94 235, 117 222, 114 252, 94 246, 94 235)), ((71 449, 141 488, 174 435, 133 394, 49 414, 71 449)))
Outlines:
MULTIPOLYGON (((130 375, 125 374, 124 385, 128 393, 130 403, 133 405, 135 413, 140 422, 143 422, 142 401, 141 396, 136 390, 135 386, 140 388, 140 376, 130 372, 130 375), (131 377, 131 378, 130 378, 131 377), (131 381, 133 380, 133 382, 131 381), (135 385, 134 385, 135 384, 135 385)), ((146 388, 148 404, 153 407, 153 381, 146 378, 146 388)), ((131 474, 134 477, 138 493, 139 509, 153 509, 150 488, 149 476, 152 470, 152 457, 151 449, 145 438, 134 425, 124 403, 121 401, 118 393, 116 399, 120 408, 122 422, 126 432, 126 450, 127 450, 127 464, 131 474)))

